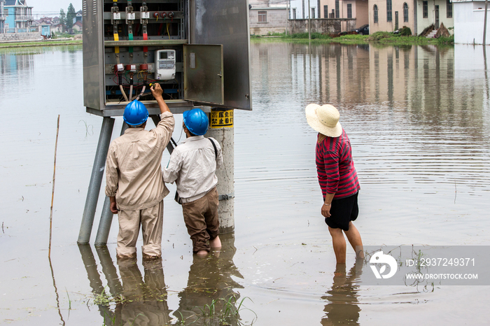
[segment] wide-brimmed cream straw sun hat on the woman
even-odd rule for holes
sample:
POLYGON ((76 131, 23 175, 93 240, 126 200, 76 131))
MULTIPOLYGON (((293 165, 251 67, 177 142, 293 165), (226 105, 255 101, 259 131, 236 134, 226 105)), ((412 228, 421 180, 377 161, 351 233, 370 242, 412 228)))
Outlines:
POLYGON ((338 137, 342 134, 340 114, 335 106, 308 104, 304 111, 306 111, 308 125, 320 134, 329 137, 338 137))

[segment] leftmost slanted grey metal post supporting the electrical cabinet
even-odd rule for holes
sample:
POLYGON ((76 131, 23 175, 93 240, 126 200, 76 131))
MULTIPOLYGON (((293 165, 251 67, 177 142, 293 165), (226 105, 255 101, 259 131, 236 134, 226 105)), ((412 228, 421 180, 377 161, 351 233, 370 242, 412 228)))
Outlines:
POLYGON ((99 199, 100 185, 104 176, 104 168, 106 166, 107 151, 111 143, 112 130, 114 127, 114 119, 105 117, 102 121, 100 129, 99 144, 95 152, 94 166, 92 167, 92 176, 88 185, 87 199, 85 200, 85 208, 83 209, 82 225, 78 234, 78 243, 85 244, 90 241, 92 233, 92 225, 94 224, 95 209, 97 208, 97 200, 99 199))

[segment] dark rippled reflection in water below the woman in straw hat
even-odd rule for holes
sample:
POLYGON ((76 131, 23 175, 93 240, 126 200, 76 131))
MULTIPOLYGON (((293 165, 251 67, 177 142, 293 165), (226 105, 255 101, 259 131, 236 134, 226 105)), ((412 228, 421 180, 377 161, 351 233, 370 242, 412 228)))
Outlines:
MULTIPOLYGON (((356 264, 363 264, 363 261, 356 264)), ((321 325, 360 325, 359 287, 356 285, 360 271, 356 271, 356 264, 351 267, 349 274, 346 273, 345 264, 337 264, 335 267, 332 288, 327 291, 327 295, 321 297, 327 300, 321 325)))

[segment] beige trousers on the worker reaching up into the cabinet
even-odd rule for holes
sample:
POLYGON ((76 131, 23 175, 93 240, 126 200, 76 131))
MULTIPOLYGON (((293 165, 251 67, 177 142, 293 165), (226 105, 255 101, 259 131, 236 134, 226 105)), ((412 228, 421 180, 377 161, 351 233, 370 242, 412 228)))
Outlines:
POLYGON ((143 233, 144 255, 162 255, 163 201, 137 211, 119 211, 118 257, 136 257, 139 225, 143 233))

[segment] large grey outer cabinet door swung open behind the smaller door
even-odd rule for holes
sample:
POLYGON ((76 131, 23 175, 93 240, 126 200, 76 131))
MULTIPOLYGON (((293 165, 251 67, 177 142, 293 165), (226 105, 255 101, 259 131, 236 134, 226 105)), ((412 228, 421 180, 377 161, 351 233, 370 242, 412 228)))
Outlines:
POLYGON ((252 109, 247 0, 190 0, 190 43, 223 44, 225 104, 252 109))

